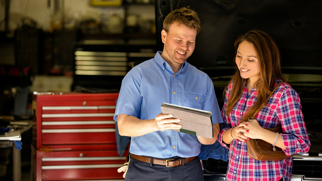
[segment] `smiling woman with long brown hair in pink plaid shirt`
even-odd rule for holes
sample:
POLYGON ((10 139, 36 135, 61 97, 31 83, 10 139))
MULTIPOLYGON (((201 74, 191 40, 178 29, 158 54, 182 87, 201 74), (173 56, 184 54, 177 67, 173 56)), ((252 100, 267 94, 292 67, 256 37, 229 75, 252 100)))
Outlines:
POLYGON ((290 181, 292 157, 257 161, 249 157, 246 140, 262 139, 272 145, 276 142, 275 146, 287 156, 308 152, 310 142, 298 94, 282 83, 270 96, 284 79, 279 50, 267 33, 251 30, 237 38, 234 47, 237 70, 225 91, 224 123, 218 136, 229 149, 226 179, 290 181), (249 118, 254 119, 248 122, 249 118), (280 134, 264 129, 279 125, 283 129, 280 134))

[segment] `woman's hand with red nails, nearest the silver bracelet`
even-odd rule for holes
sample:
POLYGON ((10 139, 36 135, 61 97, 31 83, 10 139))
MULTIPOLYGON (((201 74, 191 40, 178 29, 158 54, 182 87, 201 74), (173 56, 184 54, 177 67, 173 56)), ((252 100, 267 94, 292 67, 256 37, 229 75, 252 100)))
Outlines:
POLYGON ((264 128, 260 126, 256 119, 253 119, 252 122, 242 122, 238 126, 244 127, 246 129, 245 131, 243 131, 243 136, 252 139, 262 139, 262 133, 264 133, 264 128))

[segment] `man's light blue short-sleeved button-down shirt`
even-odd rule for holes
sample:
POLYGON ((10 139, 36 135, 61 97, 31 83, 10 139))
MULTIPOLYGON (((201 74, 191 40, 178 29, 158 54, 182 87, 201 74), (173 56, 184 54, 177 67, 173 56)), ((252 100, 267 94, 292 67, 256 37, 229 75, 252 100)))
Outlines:
MULTIPOLYGON (((223 122, 213 82, 204 72, 188 62, 174 74, 157 52, 124 77, 116 105, 118 114, 138 119, 154 119, 163 102, 211 111, 213 124, 223 122)), ((155 131, 131 138, 130 152, 157 158, 193 157, 200 153, 201 143, 194 135, 177 131, 155 131)))

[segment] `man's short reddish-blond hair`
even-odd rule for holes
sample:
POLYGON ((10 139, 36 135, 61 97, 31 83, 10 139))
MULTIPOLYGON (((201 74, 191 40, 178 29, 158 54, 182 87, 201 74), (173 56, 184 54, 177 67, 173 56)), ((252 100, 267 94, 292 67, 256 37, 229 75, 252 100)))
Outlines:
POLYGON ((195 29, 197 34, 200 32, 201 28, 198 14, 194 10, 189 9, 189 6, 187 8, 175 9, 169 13, 163 21, 163 29, 168 32, 171 24, 175 22, 178 25, 184 24, 189 28, 195 29))

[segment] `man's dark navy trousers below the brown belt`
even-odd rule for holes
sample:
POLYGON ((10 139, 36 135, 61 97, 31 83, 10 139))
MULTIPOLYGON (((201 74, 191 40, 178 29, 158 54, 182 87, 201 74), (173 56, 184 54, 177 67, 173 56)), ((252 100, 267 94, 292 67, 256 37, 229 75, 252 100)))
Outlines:
POLYGON ((199 157, 182 166, 166 167, 130 159, 125 181, 204 181, 199 157))

